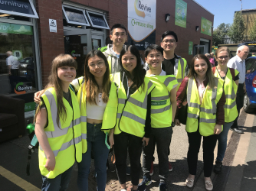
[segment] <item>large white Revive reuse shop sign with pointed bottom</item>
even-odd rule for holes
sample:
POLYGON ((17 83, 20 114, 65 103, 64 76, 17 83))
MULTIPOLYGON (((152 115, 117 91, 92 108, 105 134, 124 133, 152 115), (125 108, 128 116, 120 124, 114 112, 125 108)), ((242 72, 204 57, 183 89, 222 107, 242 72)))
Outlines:
POLYGON ((139 50, 156 44, 156 0, 128 0, 128 44, 139 50))

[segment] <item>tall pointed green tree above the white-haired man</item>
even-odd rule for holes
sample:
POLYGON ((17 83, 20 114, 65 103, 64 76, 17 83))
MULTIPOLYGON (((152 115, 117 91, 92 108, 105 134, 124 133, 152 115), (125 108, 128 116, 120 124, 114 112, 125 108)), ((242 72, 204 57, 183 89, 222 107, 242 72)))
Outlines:
POLYGON ((241 16, 241 11, 235 12, 233 24, 230 27, 228 35, 231 37, 231 40, 235 43, 241 42, 245 34, 245 21, 241 16))

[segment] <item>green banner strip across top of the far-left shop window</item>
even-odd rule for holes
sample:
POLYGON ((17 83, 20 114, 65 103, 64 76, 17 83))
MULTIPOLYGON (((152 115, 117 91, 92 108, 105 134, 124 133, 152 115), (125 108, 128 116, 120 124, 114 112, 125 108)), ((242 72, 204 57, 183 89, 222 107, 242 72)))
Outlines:
POLYGON ((0 33, 33 35, 31 26, 0 22, 0 33))

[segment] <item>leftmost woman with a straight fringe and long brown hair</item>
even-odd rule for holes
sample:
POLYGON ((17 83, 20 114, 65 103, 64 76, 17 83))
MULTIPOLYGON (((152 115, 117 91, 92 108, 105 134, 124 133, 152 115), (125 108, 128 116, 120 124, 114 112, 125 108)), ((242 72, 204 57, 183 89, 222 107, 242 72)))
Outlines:
POLYGON ((48 88, 34 116, 42 190, 66 190, 74 162, 82 159, 79 105, 69 88, 76 69, 71 55, 61 54, 53 60, 48 88))

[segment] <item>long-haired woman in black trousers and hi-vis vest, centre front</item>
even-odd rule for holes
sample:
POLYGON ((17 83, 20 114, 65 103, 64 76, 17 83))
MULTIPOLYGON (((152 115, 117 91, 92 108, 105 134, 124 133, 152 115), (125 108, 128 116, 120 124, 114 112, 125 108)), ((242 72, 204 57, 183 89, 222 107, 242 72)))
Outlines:
POLYGON ((114 151, 121 191, 126 190, 126 157, 130 157, 130 175, 137 190, 140 176, 140 156, 151 133, 151 91, 155 87, 146 77, 139 50, 124 47, 120 53, 120 73, 114 73, 113 82, 118 86, 117 125, 114 130, 114 151))

